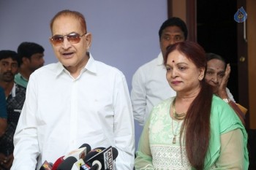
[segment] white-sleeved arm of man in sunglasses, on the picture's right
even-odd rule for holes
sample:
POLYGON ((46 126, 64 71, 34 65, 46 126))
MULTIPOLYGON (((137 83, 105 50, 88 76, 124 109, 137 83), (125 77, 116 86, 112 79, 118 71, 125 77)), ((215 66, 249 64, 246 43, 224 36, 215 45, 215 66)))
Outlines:
POLYGON ((135 128, 132 104, 124 75, 116 78, 113 96, 114 141, 118 149, 116 169, 132 170, 135 160, 135 128))

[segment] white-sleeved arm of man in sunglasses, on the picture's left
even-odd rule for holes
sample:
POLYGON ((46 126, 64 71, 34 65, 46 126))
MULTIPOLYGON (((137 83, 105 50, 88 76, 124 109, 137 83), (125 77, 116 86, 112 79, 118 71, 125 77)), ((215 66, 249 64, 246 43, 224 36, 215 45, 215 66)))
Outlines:
POLYGON ((13 138, 14 161, 11 170, 34 170, 39 156, 39 144, 37 138, 37 85, 34 85, 33 77, 29 80, 26 89, 26 101, 13 138))

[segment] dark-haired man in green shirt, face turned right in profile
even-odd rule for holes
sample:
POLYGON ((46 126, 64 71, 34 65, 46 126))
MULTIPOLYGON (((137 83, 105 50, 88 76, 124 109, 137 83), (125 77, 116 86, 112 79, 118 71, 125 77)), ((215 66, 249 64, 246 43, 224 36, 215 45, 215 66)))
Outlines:
POLYGON ((15 82, 26 88, 32 72, 44 65, 45 49, 34 42, 22 42, 18 46, 18 56, 20 59, 20 69, 15 75, 15 82))

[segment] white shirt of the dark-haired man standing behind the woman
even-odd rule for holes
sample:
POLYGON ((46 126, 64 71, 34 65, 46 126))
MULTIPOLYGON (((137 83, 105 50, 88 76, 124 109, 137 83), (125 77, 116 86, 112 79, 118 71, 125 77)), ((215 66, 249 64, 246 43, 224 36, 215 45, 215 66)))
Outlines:
POLYGON ((176 96, 166 80, 162 53, 154 60, 140 66, 132 77, 132 109, 135 120, 144 125, 151 109, 160 101, 176 96))

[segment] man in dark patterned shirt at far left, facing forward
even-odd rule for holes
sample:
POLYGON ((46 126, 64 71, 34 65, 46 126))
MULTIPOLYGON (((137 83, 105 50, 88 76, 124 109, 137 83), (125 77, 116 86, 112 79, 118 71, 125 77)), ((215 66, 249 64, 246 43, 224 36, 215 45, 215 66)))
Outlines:
POLYGON ((7 129, 0 138, 0 168, 9 170, 13 161, 13 136, 23 107, 26 88, 15 84, 18 55, 12 50, 0 51, 0 86, 4 88, 7 103, 7 129))

